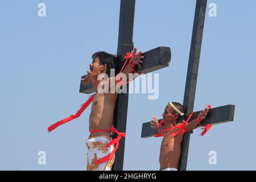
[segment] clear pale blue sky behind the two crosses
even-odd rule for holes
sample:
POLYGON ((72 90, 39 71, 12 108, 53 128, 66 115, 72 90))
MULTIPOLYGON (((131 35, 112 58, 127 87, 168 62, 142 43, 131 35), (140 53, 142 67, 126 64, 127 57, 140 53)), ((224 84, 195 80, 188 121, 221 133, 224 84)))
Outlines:
MULTIPOLYGON (((234 122, 191 136, 188 170, 255 170, 256 1, 220 1, 205 18, 195 110, 236 105, 234 122), (216 151, 217 164, 208 163, 216 151)), ((159 73, 159 98, 130 94, 125 170, 158 170, 161 138, 141 139, 143 122, 161 116, 168 101, 183 102, 196 1, 137 0, 138 51, 171 47, 159 73)), ((207 9, 207 12, 209 9, 207 9)), ((119 1, 0 1, 1 170, 85 170, 90 107, 47 134, 89 95, 79 93, 96 51, 117 52, 119 1), (38 4, 46 3, 46 17, 38 4), (46 165, 38 152, 46 151, 46 165)))

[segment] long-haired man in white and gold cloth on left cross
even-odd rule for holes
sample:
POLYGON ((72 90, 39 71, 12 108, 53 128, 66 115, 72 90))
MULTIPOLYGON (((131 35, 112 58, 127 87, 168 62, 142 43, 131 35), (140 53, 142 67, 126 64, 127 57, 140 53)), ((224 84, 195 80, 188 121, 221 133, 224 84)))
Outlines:
MULTIPOLYGON (((122 73, 128 77, 133 72, 135 65, 141 68, 140 64, 143 63, 141 59, 143 58, 142 52, 137 53, 137 48, 134 48, 130 65, 127 65, 122 73)), ((125 137, 125 133, 118 133, 113 127, 115 100, 117 100, 116 87, 120 87, 122 84, 118 84, 120 80, 116 77, 110 77, 110 69, 115 68, 117 56, 101 51, 94 53, 92 59, 93 61, 89 65, 90 70, 87 71, 88 75, 81 79, 82 85, 92 84, 96 88, 89 117, 90 135, 86 142, 88 147, 87 170, 109 171, 114 163, 114 152, 118 148, 119 139, 125 137), (99 78, 101 73, 108 75, 108 78, 106 80, 99 78), (100 85, 102 88, 103 81, 109 83, 103 85, 103 87, 108 86, 104 90, 114 90, 114 92, 98 92, 100 85), (117 138, 111 140, 111 133, 117 134, 117 138)))

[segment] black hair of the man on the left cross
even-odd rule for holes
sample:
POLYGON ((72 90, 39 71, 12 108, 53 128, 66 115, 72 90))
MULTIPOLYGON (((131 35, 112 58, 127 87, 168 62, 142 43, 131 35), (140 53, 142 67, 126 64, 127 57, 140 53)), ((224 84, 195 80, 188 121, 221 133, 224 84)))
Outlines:
MULTIPOLYGON (((112 55, 108 52, 98 51, 92 55, 92 59, 94 60, 96 59, 96 57, 98 57, 100 65, 107 65, 106 74, 110 77, 110 69, 115 68, 115 65, 117 64, 117 56, 112 55)), ((117 73, 115 73, 115 75, 116 74, 117 73)))

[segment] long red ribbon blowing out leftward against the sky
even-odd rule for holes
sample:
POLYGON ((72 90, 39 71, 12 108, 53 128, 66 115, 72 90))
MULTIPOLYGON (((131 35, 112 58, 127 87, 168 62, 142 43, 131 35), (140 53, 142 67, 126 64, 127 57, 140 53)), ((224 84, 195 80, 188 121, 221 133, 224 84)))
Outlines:
POLYGON ((95 94, 93 94, 92 96, 90 96, 88 98, 88 100, 81 106, 81 108, 77 111, 77 113, 75 115, 71 115, 69 116, 68 118, 65 118, 65 119, 62 119, 61 121, 58 121, 56 123, 54 123, 53 125, 49 126, 48 127, 48 131, 49 133, 56 129, 56 127, 60 126, 60 125, 63 125, 64 123, 67 123, 73 119, 76 119, 78 117, 80 117, 80 115, 82 114, 82 112, 90 105, 90 103, 93 101, 93 97, 94 97, 95 94))

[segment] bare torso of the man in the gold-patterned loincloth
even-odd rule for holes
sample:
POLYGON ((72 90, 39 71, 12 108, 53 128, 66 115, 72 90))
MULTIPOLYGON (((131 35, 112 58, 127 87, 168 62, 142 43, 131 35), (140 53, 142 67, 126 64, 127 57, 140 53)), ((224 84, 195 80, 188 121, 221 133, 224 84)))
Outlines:
MULTIPOLYGON (((98 93, 96 92, 92 110, 89 118, 89 130, 108 130, 113 124, 115 100, 117 99, 117 93, 98 93)), ((97 132, 90 134, 89 137, 96 137, 100 135, 106 135, 110 137, 110 133, 97 132)))

